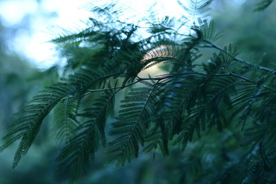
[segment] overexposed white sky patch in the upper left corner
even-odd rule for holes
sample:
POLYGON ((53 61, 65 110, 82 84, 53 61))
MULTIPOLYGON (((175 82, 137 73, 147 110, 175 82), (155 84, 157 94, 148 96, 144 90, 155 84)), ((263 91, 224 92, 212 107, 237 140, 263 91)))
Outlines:
POLYGON ((39 9, 35 0, 1 1, 0 15, 6 27, 16 25, 26 14, 32 14, 32 34, 25 29, 17 30, 9 48, 26 55, 41 69, 61 63, 63 60, 59 61, 55 44, 50 43, 50 40, 59 37, 62 28, 75 31, 86 28, 86 24, 81 20, 87 20, 90 12, 83 10, 81 6, 87 2, 88 0, 68 0, 64 6, 63 0, 44 0, 39 9), (57 12, 57 17, 43 17, 43 14, 39 14, 41 10, 46 13, 57 12))

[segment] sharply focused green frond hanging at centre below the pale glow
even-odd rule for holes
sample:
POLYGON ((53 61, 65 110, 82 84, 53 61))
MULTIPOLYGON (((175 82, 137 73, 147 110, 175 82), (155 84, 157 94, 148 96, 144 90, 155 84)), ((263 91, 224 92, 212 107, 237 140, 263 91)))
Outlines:
POLYGON ((111 141, 107 154, 117 160, 117 166, 124 165, 138 156, 139 145, 144 145, 144 134, 150 123, 150 112, 154 108, 158 96, 158 83, 150 83, 144 88, 134 88, 121 103, 117 121, 112 123, 110 135, 117 136, 111 141))

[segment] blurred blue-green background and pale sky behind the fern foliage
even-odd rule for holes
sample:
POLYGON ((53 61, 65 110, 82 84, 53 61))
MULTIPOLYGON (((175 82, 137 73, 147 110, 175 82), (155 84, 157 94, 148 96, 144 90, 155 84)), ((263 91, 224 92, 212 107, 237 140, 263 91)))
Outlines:
MULTIPOLYGON (((104 2, 0 0, 0 136, 5 134, 12 114, 26 105, 43 86, 57 81, 66 65, 66 58, 61 57, 50 39, 86 28, 86 21, 92 14, 90 8, 101 3, 104 2)), ((147 11, 154 4, 160 18, 165 15, 181 17, 184 13, 175 0, 170 3, 165 0, 121 0, 117 3, 140 17, 148 16, 150 12, 147 11)), ((213 1, 210 17, 222 33, 217 45, 232 43, 242 52, 239 54, 242 59, 262 61, 261 65, 271 66, 276 61, 273 57, 276 4, 264 12, 254 12, 255 3, 213 1)), ((135 19, 130 21, 135 22, 135 19)), ((55 158, 59 145, 50 134, 50 121, 51 116, 43 123, 37 141, 14 170, 11 165, 17 145, 0 153, 1 184, 66 183, 57 172, 55 158)), ((166 159, 157 153, 155 161, 152 161, 152 155, 141 155, 119 169, 114 165, 104 166, 99 154, 90 174, 77 183, 204 183, 201 181, 203 176, 206 181, 235 178, 239 171, 228 171, 238 164, 238 158, 246 150, 239 146, 241 137, 235 125, 225 125, 223 132, 211 130, 206 132, 204 139, 194 139, 185 152, 175 147, 166 159)))

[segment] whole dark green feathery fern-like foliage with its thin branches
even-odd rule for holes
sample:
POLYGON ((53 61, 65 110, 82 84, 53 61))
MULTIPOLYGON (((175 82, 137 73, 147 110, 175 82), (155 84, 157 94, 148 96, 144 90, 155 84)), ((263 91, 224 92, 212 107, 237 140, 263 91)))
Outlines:
MULTIPOLYGON (((256 10, 271 2, 262 1, 256 10)), ((120 166, 142 152, 166 157, 173 147, 185 150, 204 132, 235 123, 244 132, 247 151, 226 168, 239 170, 233 181, 274 183, 276 70, 239 59, 231 44, 220 48, 215 43, 214 21, 201 17, 210 3, 179 1, 186 11, 182 22, 169 17, 148 22, 146 38, 137 36, 144 27, 119 20, 115 6, 97 7, 93 11, 101 19, 90 18, 89 28, 52 40, 63 48, 68 64, 60 81, 34 96, 10 123, 1 150, 19 140, 12 167, 27 154, 51 112, 52 132, 63 146, 57 162, 69 181, 89 171, 100 149, 107 163, 120 166), (188 34, 181 32, 184 26, 188 34), (213 54, 204 55, 202 48, 213 54), (147 74, 155 65, 164 72, 147 74)))

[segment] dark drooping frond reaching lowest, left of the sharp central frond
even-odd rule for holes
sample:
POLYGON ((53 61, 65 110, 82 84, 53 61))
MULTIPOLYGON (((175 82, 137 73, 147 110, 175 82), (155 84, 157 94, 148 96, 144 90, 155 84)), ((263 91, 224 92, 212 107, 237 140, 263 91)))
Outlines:
POLYGON ((57 157, 59 168, 69 174, 69 178, 75 181, 79 176, 88 172, 100 141, 106 145, 105 126, 108 115, 114 111, 114 97, 117 91, 106 90, 95 100, 90 108, 77 114, 83 117, 76 129, 76 135, 66 143, 57 157))

